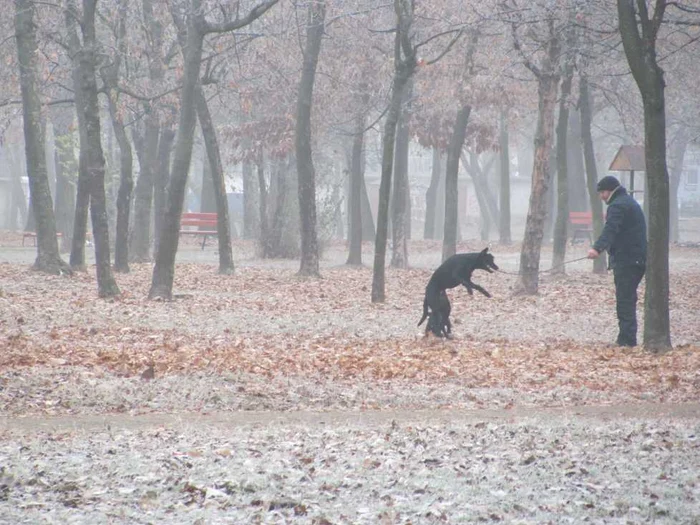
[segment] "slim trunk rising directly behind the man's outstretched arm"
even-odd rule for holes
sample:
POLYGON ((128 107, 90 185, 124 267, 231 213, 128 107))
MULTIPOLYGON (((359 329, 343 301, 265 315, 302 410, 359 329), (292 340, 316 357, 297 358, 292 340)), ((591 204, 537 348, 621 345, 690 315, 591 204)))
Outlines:
MULTIPOLYGON (((593 101, 588 88, 588 78, 579 76, 579 111, 581 112, 581 140, 583 146, 583 160, 586 166, 586 185, 593 216, 593 236, 600 237, 603 232, 603 203, 598 198, 596 185, 598 184, 598 167, 593 151, 593 135, 591 133, 591 121, 593 101)), ((601 253, 600 257, 593 260, 593 273, 605 273, 607 268, 607 254, 601 253)))

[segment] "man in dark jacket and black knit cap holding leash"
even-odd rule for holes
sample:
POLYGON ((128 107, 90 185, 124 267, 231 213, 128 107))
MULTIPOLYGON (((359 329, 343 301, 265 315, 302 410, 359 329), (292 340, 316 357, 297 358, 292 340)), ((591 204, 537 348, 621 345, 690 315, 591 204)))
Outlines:
POLYGON ((637 201, 608 175, 596 187, 600 199, 608 205, 603 233, 588 250, 588 258, 595 259, 603 251, 610 255, 609 266, 615 277, 615 299, 619 346, 637 345, 637 287, 647 259, 647 225, 644 212, 637 201))

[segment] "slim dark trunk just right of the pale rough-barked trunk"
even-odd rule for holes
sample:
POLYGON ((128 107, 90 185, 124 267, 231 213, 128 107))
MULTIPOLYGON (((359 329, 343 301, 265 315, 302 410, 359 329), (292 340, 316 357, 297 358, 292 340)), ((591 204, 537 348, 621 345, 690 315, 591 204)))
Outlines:
POLYGON ((569 134, 569 97, 574 70, 567 64, 561 82, 559 97, 559 120, 557 122, 557 215, 554 223, 554 242, 552 247, 552 273, 564 274, 566 259, 566 240, 569 224, 569 170, 568 170, 568 134, 569 134))

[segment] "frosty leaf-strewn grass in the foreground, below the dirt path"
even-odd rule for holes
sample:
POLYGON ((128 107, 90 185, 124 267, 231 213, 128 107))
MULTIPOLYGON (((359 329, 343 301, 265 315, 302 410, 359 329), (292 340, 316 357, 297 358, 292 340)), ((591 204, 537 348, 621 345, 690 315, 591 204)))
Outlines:
POLYGON ((697 419, 403 417, 41 431, 3 523, 697 523, 697 419))

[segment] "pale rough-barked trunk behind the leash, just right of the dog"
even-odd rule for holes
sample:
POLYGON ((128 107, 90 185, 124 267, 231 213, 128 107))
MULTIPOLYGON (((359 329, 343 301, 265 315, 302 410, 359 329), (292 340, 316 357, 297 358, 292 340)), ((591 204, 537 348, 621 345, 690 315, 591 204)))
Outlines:
MULTIPOLYGON (((551 49, 555 46, 552 43, 549 45, 550 54, 552 54, 551 49)), ((538 291, 540 251, 544 236, 544 221, 547 214, 547 190, 552 177, 550 155, 552 152, 554 108, 557 103, 559 75, 550 70, 549 72, 541 73, 537 81, 539 108, 534 141, 532 186, 525 222, 525 236, 520 251, 520 275, 514 290, 516 295, 535 295, 538 291)))

